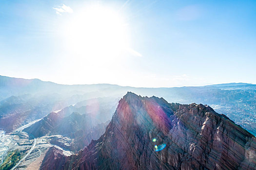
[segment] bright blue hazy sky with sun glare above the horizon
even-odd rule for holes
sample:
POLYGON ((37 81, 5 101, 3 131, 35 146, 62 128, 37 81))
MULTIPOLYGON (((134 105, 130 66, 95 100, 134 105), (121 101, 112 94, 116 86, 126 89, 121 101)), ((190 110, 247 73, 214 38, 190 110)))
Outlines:
POLYGON ((256 84, 256 0, 0 0, 0 75, 256 84))

